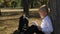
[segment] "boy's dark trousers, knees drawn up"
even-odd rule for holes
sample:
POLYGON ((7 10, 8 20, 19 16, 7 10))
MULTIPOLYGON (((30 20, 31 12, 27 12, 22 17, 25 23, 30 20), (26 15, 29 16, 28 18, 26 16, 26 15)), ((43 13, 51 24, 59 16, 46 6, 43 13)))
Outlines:
POLYGON ((42 31, 39 31, 37 26, 32 25, 31 27, 29 27, 24 34, 44 34, 42 31))

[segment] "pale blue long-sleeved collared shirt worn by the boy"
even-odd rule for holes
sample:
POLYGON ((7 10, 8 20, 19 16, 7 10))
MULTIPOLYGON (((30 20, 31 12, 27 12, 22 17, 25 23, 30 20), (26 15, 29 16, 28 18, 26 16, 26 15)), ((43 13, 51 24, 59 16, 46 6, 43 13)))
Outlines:
POLYGON ((42 19, 40 26, 42 28, 42 32, 44 32, 45 34, 50 34, 51 32, 53 32, 52 22, 49 16, 46 16, 44 19, 42 19))

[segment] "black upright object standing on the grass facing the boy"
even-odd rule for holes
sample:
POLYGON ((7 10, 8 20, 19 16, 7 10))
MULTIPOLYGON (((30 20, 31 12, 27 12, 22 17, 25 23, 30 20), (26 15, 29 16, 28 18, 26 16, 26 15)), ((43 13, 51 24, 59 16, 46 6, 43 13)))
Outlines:
POLYGON ((28 28, 28 18, 25 15, 22 15, 19 19, 19 27, 18 30, 20 33, 26 31, 28 28))

